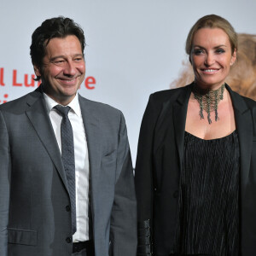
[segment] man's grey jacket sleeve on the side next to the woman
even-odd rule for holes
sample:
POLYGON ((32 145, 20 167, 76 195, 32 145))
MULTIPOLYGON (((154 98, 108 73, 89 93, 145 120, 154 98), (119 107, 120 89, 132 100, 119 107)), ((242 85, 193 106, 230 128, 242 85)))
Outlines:
POLYGON ((122 113, 120 116, 116 168, 109 255, 135 256, 137 252, 137 202, 131 153, 122 113))

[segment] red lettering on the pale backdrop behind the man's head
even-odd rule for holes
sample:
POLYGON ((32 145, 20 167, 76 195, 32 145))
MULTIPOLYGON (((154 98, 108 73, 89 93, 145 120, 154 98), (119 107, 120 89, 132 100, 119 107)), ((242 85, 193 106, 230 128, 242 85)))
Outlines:
MULTIPOLYGON (((11 84, 6 83, 5 78, 5 67, 0 67, 0 104, 3 104, 5 102, 8 102, 9 94, 5 93, 3 89, 6 89, 9 86, 16 87, 16 88, 36 88, 41 84, 41 81, 35 81, 34 79, 36 76, 34 74, 24 74, 22 79, 18 79, 18 70, 13 69, 11 76, 12 79, 9 79, 11 81, 11 84)), ((22 76, 21 76, 22 77, 22 76)), ((81 87, 84 86, 87 90, 94 90, 96 88, 96 79, 94 77, 88 76, 84 79, 83 84, 81 84, 81 87)))

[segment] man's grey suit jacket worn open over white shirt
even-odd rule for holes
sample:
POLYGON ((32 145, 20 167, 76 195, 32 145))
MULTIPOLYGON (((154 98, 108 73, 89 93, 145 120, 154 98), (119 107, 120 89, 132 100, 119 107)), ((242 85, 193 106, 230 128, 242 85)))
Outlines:
MULTIPOLYGON (((96 256, 135 256, 137 208, 122 113, 79 96, 96 256)), ((0 255, 71 256, 67 177, 41 90, 0 106, 0 255)))

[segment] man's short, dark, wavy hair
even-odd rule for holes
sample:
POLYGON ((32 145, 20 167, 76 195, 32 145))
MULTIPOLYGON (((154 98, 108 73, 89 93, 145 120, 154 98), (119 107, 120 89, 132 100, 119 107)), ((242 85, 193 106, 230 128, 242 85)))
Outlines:
MULTIPOLYGON (((57 17, 44 20, 41 26, 32 33, 32 44, 30 46, 30 55, 32 64, 38 67, 40 73, 43 71, 43 58, 45 55, 46 46, 52 38, 66 38, 67 36, 74 35, 79 38, 81 49, 84 55, 84 31, 73 20, 65 17, 57 17)), ((37 77, 35 80, 40 80, 37 77)))

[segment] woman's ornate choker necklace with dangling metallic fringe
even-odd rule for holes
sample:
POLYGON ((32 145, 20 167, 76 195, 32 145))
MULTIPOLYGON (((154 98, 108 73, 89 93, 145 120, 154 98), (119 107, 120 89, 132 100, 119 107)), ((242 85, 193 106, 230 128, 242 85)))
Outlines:
POLYGON ((199 102, 200 106, 200 118, 204 119, 203 110, 207 112, 207 119, 209 125, 212 124, 211 112, 215 112, 215 121, 218 121, 218 102, 223 100, 223 93, 225 84, 222 84, 218 90, 201 89, 196 84, 193 85, 192 91, 194 93, 195 100, 199 102))

